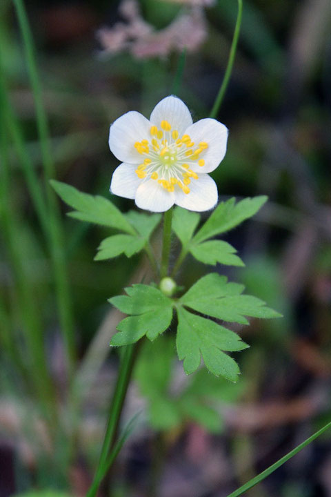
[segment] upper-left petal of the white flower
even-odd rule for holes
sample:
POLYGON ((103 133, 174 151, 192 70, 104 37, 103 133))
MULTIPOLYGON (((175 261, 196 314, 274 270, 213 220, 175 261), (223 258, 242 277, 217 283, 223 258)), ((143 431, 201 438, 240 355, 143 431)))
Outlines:
POLYGON ((149 139, 149 131, 150 121, 142 114, 135 110, 123 114, 110 126, 110 150, 120 161, 139 164, 141 154, 134 148, 134 144, 149 139))

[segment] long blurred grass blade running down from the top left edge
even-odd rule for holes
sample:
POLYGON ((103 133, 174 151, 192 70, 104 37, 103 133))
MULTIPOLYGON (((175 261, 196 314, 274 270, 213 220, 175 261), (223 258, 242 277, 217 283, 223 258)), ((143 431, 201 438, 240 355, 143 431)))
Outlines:
POLYGON ((32 93, 34 95, 34 104, 37 115, 37 128, 41 144, 41 154, 43 157, 46 198, 48 202, 50 256, 52 260, 54 283, 57 293, 57 304, 59 308, 61 331, 63 333, 63 341, 66 347, 68 371, 71 378, 76 356, 74 346, 74 320, 72 315, 68 277, 66 274, 66 260, 63 249, 63 233, 61 229, 59 208, 55 195, 49 184, 49 180, 54 177, 54 164, 52 161, 52 153, 50 149, 48 121, 45 110, 43 108, 41 85, 39 82, 37 64, 34 55, 32 34, 30 31, 28 17, 26 15, 23 0, 14 0, 14 6, 17 11, 19 28, 21 30, 23 46, 26 53, 32 93))

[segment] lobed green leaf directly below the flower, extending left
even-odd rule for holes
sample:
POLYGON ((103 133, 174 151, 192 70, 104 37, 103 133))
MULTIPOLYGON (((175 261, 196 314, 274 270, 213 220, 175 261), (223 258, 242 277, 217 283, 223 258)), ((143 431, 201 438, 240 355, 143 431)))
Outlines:
POLYGON ((94 260, 112 259, 122 253, 131 257, 134 253, 140 252, 148 244, 150 235, 161 220, 160 214, 146 215, 134 211, 122 214, 110 200, 99 195, 94 197, 54 180, 51 184, 61 199, 76 209, 69 213, 71 217, 126 233, 105 238, 94 260))

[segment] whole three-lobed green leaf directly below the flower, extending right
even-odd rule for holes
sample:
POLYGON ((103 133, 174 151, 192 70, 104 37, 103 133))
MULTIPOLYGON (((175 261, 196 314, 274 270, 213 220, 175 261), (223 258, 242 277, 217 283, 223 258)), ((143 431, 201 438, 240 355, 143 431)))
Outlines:
POLYGON ((200 220, 199 214, 178 207, 174 211, 172 229, 179 237, 183 251, 190 252, 200 262, 212 266, 217 262, 228 266, 244 266, 243 261, 236 255, 236 249, 229 243, 208 239, 221 235, 252 217, 266 199, 267 197, 261 196, 246 198, 237 204, 234 198, 221 202, 195 235, 194 231, 200 220))

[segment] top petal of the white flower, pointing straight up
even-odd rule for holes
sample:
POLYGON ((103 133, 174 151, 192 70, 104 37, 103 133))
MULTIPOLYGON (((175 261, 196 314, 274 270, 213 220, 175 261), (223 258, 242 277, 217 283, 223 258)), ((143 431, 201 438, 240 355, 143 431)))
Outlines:
POLYGON ((177 130, 180 137, 193 122, 190 110, 184 102, 172 95, 161 100, 150 115, 150 122, 159 129, 163 120, 168 121, 172 130, 177 130))

